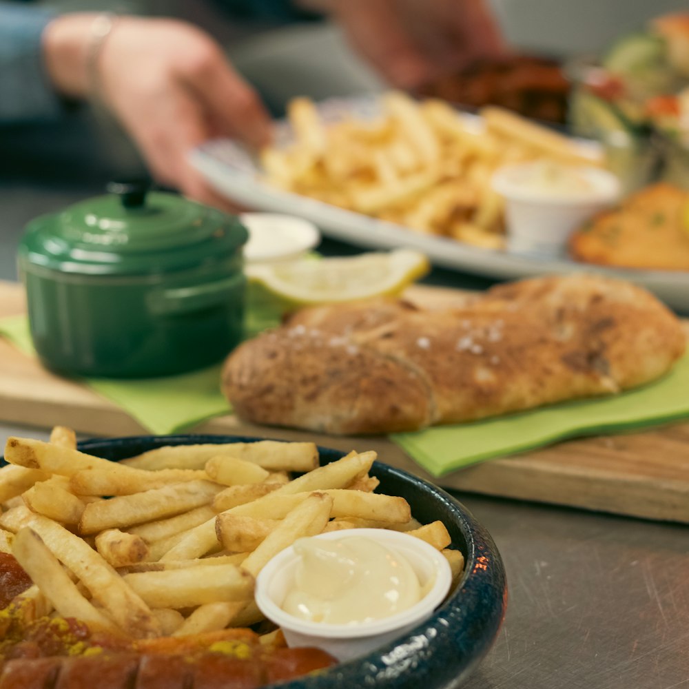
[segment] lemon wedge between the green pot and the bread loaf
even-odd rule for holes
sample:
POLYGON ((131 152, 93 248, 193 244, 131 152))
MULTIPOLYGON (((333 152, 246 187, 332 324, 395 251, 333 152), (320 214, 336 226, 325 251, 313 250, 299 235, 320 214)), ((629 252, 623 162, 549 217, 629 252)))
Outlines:
POLYGON ((344 258, 249 265, 250 282, 292 307, 395 295, 429 271, 419 251, 394 249, 344 258))

